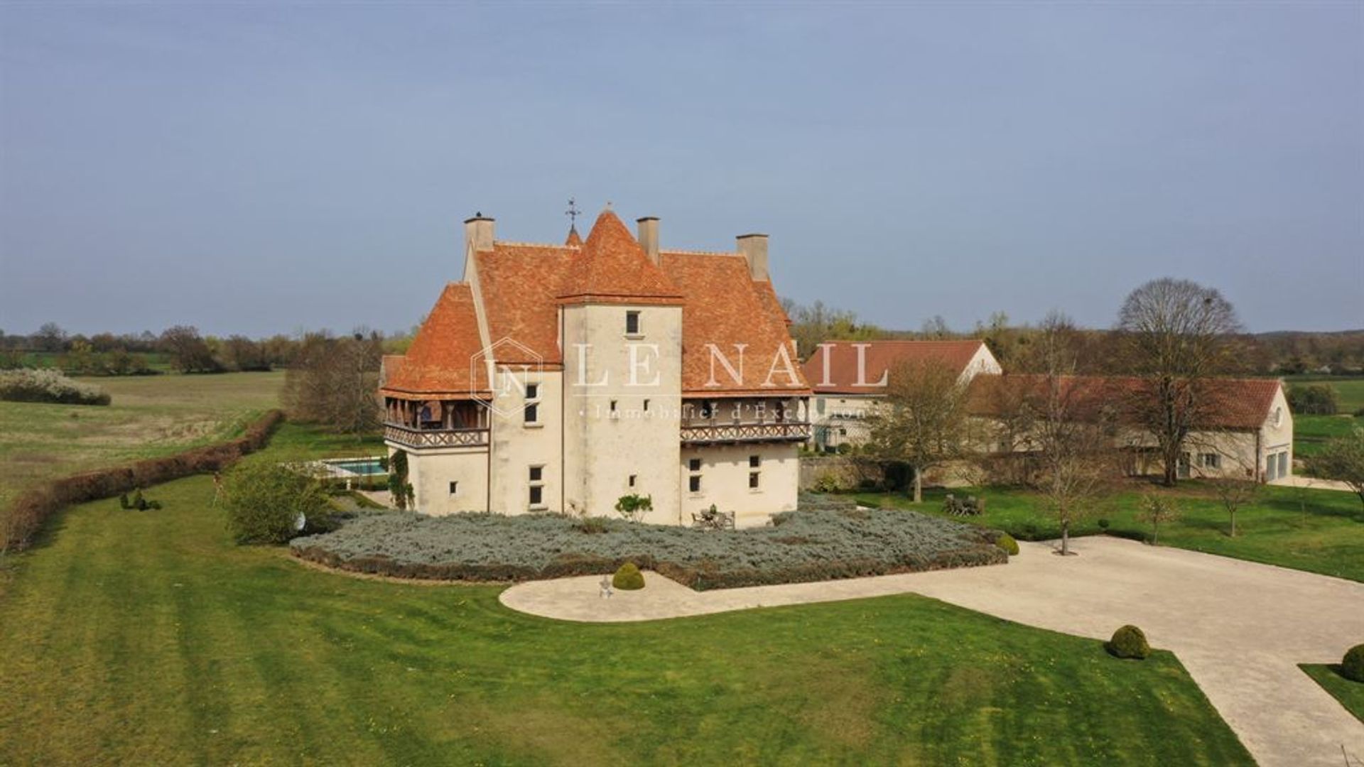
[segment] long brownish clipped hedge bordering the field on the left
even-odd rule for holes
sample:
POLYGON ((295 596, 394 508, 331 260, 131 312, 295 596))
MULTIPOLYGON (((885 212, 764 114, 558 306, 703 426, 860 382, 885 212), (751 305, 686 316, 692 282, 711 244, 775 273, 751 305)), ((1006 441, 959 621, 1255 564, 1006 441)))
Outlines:
POLYGON ((23 549, 42 523, 72 504, 113 498, 130 490, 150 487, 191 474, 220 471, 241 456, 259 450, 284 422, 284 412, 273 409, 247 427, 236 439, 192 448, 173 456, 147 459, 134 464, 87 471, 53 479, 20 493, 10 512, 0 519, 0 539, 7 546, 23 549))

